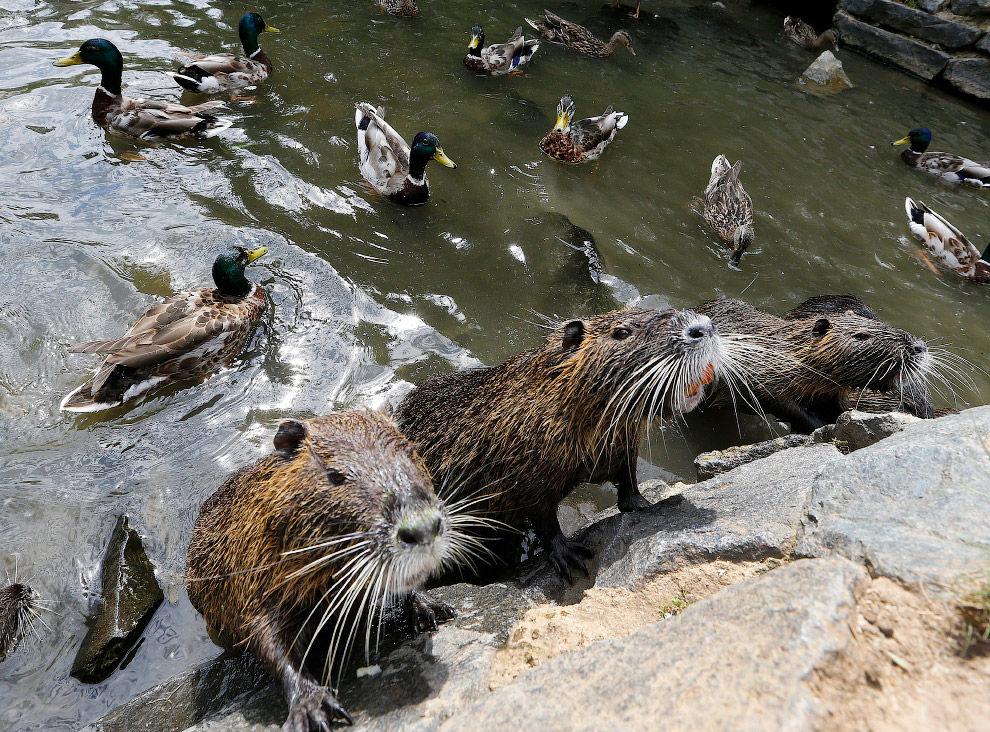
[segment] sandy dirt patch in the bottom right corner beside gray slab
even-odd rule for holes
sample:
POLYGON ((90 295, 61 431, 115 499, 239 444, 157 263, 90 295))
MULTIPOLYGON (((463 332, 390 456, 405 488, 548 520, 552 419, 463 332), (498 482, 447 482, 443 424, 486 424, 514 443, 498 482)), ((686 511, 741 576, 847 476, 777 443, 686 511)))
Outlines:
POLYGON ((961 655, 954 607, 879 578, 856 618, 853 642, 811 680, 826 712, 822 730, 990 729, 990 656, 980 648, 961 655))

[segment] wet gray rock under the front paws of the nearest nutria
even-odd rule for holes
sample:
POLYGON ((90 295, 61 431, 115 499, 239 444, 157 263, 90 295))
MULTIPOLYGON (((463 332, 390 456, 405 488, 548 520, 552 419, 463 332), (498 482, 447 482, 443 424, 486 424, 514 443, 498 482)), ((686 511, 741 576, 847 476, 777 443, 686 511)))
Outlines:
MULTIPOLYGON (((450 712, 488 691, 495 651, 533 605, 511 585, 454 585, 431 591, 458 617, 415 640, 386 639, 372 663, 377 676, 356 678, 352 663, 338 684, 355 730, 432 730, 450 712)), ((287 709, 279 687, 249 654, 221 657, 169 679, 84 732, 276 732, 287 709)))

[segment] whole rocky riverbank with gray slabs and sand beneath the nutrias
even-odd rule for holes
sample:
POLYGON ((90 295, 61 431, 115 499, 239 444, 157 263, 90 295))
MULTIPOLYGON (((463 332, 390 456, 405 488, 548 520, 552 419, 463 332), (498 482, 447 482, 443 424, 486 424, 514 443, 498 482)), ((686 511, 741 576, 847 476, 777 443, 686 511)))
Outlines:
MULTIPOLYGON (((847 414, 756 453, 694 485, 644 484, 645 512, 597 516, 580 532, 591 578, 574 587, 535 560, 505 583, 436 590, 456 620, 340 683, 355 729, 984 725, 990 655, 958 610, 960 583, 990 567, 990 407, 847 414)), ((275 732, 284 717, 241 656, 87 729, 275 732)))

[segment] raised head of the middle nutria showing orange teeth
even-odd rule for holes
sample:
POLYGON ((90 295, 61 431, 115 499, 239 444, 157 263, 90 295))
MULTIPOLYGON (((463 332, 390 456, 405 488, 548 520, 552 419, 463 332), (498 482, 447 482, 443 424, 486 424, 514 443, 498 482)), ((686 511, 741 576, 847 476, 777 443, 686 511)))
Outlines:
POLYGON ((547 341, 576 414, 643 420, 690 412, 725 358, 711 319, 690 310, 615 310, 566 322, 547 341), (598 404, 596 405, 596 402, 598 404), (604 404, 601 404, 604 402, 604 404))

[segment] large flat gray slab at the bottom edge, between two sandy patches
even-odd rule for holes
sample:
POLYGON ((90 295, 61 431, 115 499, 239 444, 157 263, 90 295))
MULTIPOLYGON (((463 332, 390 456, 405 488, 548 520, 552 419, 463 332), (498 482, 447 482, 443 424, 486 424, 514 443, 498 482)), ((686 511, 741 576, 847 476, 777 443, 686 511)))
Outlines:
POLYGON ((865 579, 849 562, 795 562, 528 670, 440 729, 820 729, 826 710, 807 681, 852 642, 865 579))

